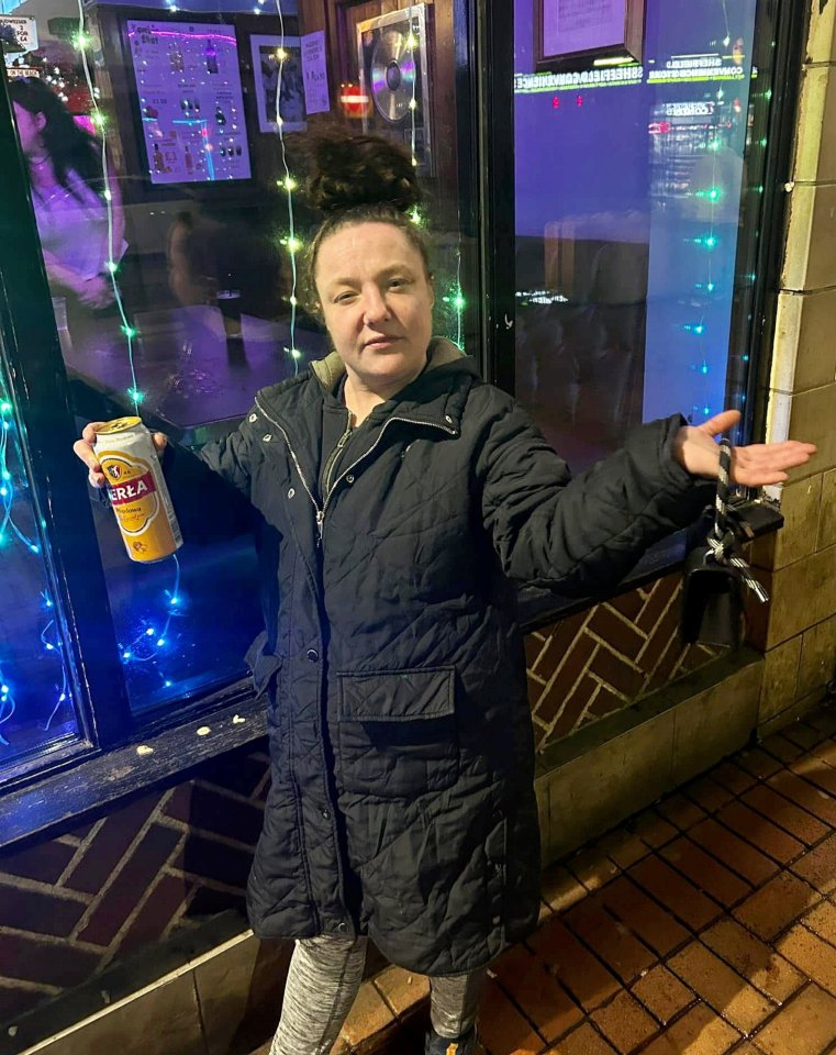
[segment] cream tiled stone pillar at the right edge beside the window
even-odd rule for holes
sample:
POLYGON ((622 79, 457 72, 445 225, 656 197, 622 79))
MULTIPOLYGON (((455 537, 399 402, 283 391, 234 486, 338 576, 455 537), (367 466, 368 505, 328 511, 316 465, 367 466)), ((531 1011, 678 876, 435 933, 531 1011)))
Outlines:
POLYGON ((754 547, 770 588, 761 735, 814 707, 836 669, 836 0, 812 0, 770 378, 768 438, 818 454, 783 488, 787 526, 754 547))

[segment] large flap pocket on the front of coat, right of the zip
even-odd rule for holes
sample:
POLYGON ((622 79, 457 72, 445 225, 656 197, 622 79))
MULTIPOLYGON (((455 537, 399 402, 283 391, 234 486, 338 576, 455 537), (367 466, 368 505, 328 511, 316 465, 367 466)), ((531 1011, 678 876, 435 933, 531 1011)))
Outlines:
POLYGON ((400 799, 456 782, 453 667, 338 678, 338 779, 346 791, 400 799))

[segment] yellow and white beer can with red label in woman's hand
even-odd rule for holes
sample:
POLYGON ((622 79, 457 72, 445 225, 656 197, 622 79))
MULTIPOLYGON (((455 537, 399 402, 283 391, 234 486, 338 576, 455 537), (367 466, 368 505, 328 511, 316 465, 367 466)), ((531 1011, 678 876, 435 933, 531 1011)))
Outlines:
POLYGON ((140 418, 109 421, 96 435, 96 456, 132 560, 163 560, 182 545, 154 441, 140 418))

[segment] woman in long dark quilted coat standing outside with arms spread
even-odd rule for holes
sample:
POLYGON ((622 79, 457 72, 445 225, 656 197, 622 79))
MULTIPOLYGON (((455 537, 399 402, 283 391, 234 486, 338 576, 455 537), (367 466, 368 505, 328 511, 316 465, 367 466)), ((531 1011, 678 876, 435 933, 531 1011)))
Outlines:
MULTIPOLYGON (((484 969, 538 911, 516 588, 614 586, 699 514, 712 434, 737 415, 654 422, 570 481, 514 400, 432 335, 410 157, 331 140, 314 169, 328 215, 308 275, 334 352, 259 392, 197 465, 156 438, 187 536, 201 509, 234 526, 228 498, 207 499, 216 476, 260 514, 267 626, 248 659, 272 787, 249 912, 257 934, 298 940, 272 1055, 331 1051, 366 935, 431 977, 426 1052, 467 1055, 484 969)), ((97 427, 76 451, 98 487, 97 427)), ((812 451, 738 448, 736 479, 783 480, 812 451)))

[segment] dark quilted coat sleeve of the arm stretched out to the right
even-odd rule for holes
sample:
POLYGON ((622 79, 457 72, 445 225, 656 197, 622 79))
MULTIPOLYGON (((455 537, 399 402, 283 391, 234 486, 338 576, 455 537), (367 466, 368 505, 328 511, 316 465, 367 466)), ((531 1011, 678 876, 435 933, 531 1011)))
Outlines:
POLYGON ((509 403, 477 464, 482 518, 515 582, 567 596, 614 588, 653 543, 688 526, 712 487, 673 456, 679 415, 635 429, 621 451, 572 479, 528 414, 509 403))

